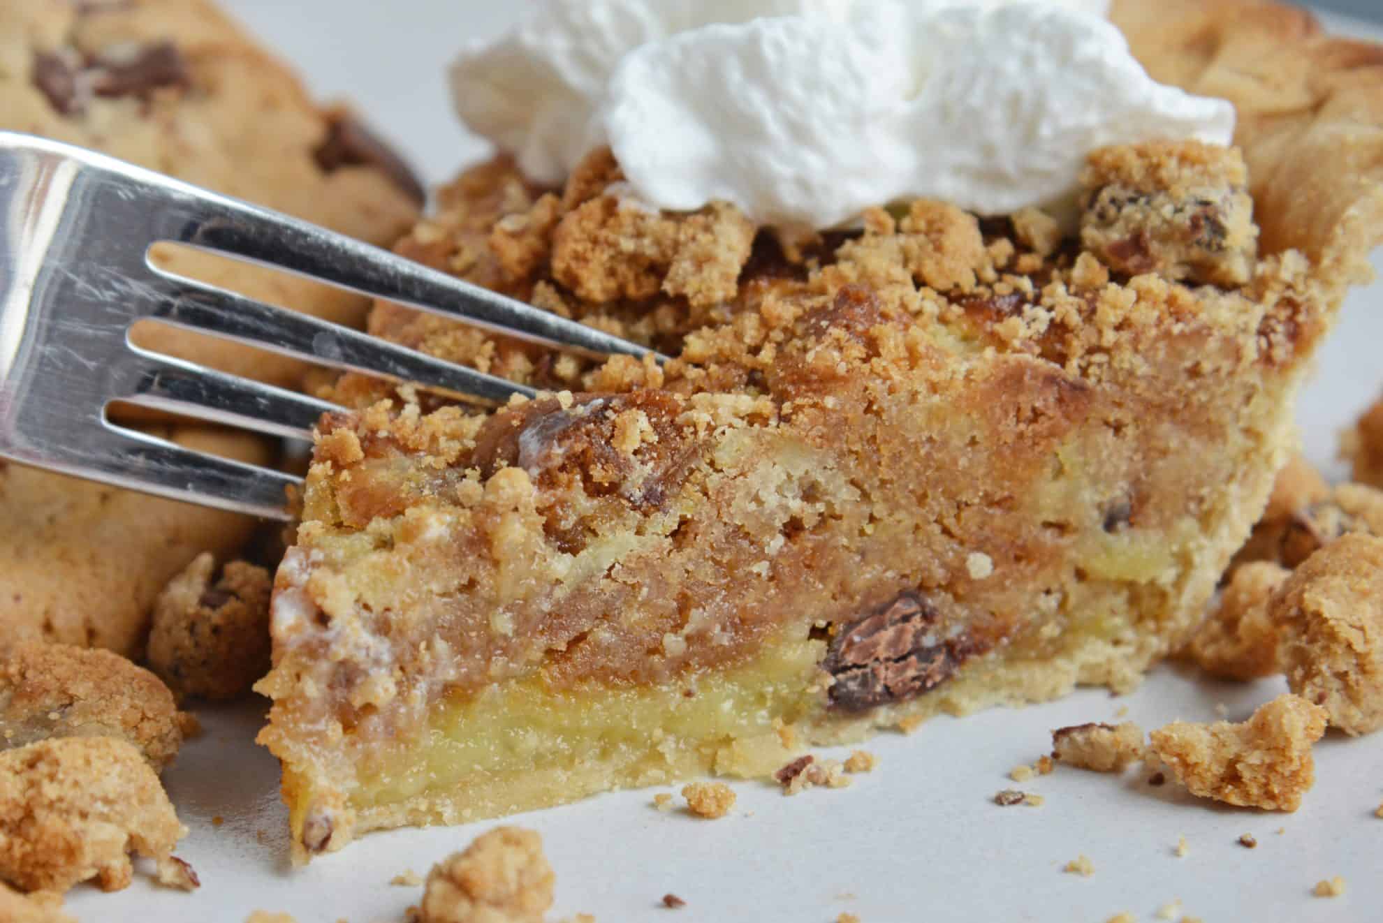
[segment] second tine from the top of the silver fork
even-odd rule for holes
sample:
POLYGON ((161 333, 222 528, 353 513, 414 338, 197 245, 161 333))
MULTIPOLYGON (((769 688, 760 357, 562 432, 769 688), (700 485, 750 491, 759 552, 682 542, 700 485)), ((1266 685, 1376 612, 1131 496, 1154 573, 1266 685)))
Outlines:
POLYGON ((151 269, 162 282, 151 286, 156 304, 147 316, 178 327, 249 343, 322 365, 400 381, 418 381, 459 397, 503 403, 513 394, 535 397, 523 384, 444 362, 418 350, 387 343, 329 321, 151 269))

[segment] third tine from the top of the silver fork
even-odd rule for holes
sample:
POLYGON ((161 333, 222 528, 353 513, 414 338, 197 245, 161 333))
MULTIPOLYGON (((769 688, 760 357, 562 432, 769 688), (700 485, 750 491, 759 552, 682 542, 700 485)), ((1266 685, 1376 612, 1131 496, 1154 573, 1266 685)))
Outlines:
POLYGON ((130 347, 129 394, 116 399, 256 432, 311 439, 324 413, 342 408, 286 388, 130 347))

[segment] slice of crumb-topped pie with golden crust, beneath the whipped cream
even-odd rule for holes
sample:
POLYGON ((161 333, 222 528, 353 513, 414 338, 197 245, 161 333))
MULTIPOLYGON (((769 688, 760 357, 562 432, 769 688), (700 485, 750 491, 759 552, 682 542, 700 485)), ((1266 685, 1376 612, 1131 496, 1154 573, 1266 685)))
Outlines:
POLYGON ((297 858, 1126 689, 1184 641, 1383 228, 1383 51, 1271 4, 1115 18, 1239 146, 1097 152, 1079 235, 922 200, 787 243, 632 207, 599 151, 445 191, 402 253, 678 358, 375 310, 548 395, 336 386, 259 687, 297 858))

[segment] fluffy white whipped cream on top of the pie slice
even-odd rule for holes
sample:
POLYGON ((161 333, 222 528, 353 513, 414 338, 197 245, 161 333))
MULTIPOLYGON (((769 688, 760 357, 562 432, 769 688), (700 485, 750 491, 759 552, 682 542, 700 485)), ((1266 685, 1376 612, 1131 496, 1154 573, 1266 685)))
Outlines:
POLYGON ((1105 7, 549 0, 463 51, 452 94, 539 182, 609 144, 660 209, 719 199, 810 228, 911 198, 1001 214, 1069 199, 1099 146, 1229 142, 1234 108, 1153 82, 1105 7))

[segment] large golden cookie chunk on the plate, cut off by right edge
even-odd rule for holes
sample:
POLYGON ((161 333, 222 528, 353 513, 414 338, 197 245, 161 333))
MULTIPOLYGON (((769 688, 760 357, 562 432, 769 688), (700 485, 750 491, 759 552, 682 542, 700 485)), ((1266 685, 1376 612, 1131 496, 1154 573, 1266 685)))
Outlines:
POLYGON ((1383 539, 1346 535, 1286 580, 1272 618, 1283 626, 1288 685, 1346 734, 1383 727, 1383 539))

